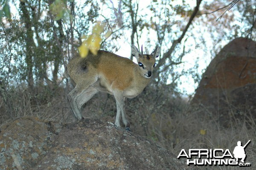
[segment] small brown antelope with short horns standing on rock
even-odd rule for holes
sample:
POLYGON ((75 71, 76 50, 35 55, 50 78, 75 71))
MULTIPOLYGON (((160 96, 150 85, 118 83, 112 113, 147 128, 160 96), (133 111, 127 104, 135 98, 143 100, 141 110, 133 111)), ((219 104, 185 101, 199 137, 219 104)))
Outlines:
POLYGON ((80 112, 82 104, 96 92, 108 92, 116 98, 116 125, 120 126, 120 113, 122 113, 123 123, 129 128, 124 98, 134 98, 149 83, 155 57, 159 55, 159 51, 160 48, 157 48, 151 55, 140 55, 137 48, 132 46, 132 54, 136 56, 138 63, 143 63, 143 66, 128 58, 102 50, 99 50, 97 55, 89 53, 86 58, 71 59, 67 65, 67 72, 76 87, 68 97, 76 118, 82 118, 80 112))

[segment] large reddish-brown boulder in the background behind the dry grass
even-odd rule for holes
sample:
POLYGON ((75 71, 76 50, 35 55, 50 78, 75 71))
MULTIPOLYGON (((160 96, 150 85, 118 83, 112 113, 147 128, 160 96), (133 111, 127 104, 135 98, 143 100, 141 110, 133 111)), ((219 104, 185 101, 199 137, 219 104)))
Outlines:
POLYGON ((256 42, 236 38, 212 60, 196 89, 192 105, 218 114, 223 123, 247 112, 256 118, 256 42))

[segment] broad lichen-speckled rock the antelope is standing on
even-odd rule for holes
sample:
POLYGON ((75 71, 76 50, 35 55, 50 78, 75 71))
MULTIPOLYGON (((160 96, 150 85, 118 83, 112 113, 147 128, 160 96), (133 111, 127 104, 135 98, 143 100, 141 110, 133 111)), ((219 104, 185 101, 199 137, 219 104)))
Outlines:
POLYGON ((146 138, 95 119, 61 124, 26 117, 0 130, 3 170, 191 169, 176 157, 146 138))

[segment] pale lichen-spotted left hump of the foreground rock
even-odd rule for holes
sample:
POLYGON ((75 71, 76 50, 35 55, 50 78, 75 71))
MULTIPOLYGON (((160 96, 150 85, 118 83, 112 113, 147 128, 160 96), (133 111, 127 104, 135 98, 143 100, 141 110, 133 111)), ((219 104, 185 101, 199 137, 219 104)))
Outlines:
POLYGON ((0 170, 27 170, 53 146, 64 127, 36 117, 19 118, 0 129, 0 170))

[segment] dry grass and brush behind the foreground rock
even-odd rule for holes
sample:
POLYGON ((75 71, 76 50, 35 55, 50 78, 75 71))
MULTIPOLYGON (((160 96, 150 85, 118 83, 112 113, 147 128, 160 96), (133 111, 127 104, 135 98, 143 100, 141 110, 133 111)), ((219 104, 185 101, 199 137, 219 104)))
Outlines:
MULTIPOLYGON (((133 133, 150 138, 176 156, 181 149, 190 148, 223 148, 233 151, 237 141, 245 144, 251 140, 246 148, 246 162, 252 164, 251 169, 256 169, 256 124, 250 110, 243 110, 246 113, 244 117, 247 118, 234 118, 236 121, 229 122, 230 126, 224 127, 220 124, 218 115, 214 116, 207 110, 203 113, 191 111, 186 100, 172 96, 172 92, 166 89, 157 92, 154 87, 147 87, 137 98, 125 101, 133 133), (205 130, 206 133, 201 134, 200 130, 205 130)), ((26 91, 12 95, 8 99, 9 105, 0 98, 0 127, 27 115, 66 123, 75 121, 63 88, 59 88, 53 95, 47 95, 41 102, 32 101, 26 91), (11 114, 9 110, 12 110, 11 114)), ((113 96, 98 93, 83 106, 82 112, 84 117, 114 122, 116 102, 113 96)), ((218 166, 209 168, 239 169, 218 166)))

